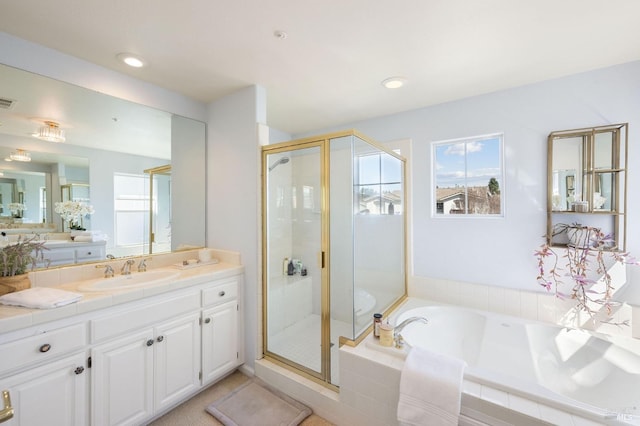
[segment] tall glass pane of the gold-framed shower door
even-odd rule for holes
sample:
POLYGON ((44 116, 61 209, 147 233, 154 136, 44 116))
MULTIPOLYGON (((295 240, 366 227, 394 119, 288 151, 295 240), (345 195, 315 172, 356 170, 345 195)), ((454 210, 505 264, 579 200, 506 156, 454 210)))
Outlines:
POLYGON ((320 144, 264 158, 266 351, 318 378, 324 372, 322 166, 320 144))

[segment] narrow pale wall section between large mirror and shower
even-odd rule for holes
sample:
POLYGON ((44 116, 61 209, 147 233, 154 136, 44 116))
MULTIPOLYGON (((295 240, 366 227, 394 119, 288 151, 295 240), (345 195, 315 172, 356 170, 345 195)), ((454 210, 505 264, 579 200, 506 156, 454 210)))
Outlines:
POLYGON ((245 357, 259 356, 260 149, 265 91, 251 86, 209 105, 207 135, 207 243, 240 252, 245 267, 245 357))

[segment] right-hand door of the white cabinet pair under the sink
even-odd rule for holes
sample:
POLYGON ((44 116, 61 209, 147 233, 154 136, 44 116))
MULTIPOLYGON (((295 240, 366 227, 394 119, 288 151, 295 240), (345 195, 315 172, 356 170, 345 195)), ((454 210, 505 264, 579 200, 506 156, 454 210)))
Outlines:
POLYGON ((200 386, 200 313, 155 329, 155 410, 200 386))

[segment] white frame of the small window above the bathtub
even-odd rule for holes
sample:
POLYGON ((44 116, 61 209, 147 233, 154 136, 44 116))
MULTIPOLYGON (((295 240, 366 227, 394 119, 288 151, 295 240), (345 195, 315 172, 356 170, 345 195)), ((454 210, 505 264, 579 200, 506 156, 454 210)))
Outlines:
MULTIPOLYGON (((504 138, 504 132, 496 132, 496 133, 489 133, 489 134, 484 134, 484 135, 477 135, 477 136, 469 136, 469 137, 463 137, 463 138, 457 138, 457 139, 447 139, 447 140, 441 140, 441 141, 434 141, 431 142, 431 206, 430 206, 430 211, 431 211, 431 217, 434 219, 469 219, 469 218, 478 218, 478 219, 504 219, 506 217, 506 212, 505 212, 505 197, 506 197, 506 191, 505 191, 505 164, 504 164, 504 143, 505 143, 505 138, 504 138), (437 158, 437 150, 438 148, 442 147, 443 145, 456 145, 456 144, 468 144, 468 143, 474 143, 474 142, 482 142, 482 141, 486 141, 486 140, 494 140, 494 139, 498 139, 498 165, 500 167, 500 172, 497 176, 495 176, 495 178, 498 180, 498 183, 500 185, 500 213, 496 213, 496 214, 489 214, 489 213, 469 213, 469 212, 464 212, 461 214, 445 214, 445 213, 439 213, 438 212, 438 194, 437 194, 437 185, 438 185, 438 158, 437 158)), ((465 162, 465 167, 464 167, 464 191, 465 191, 465 206, 468 206, 468 188, 469 187, 473 187, 470 186, 468 184, 468 179, 469 179, 469 170, 467 168, 467 156, 468 156, 468 152, 466 149, 466 145, 465 145, 465 153, 464 153, 464 162, 465 162)), ((488 184, 488 180, 490 178, 487 178, 487 184, 488 184)), ((444 207, 444 206, 443 206, 444 207)), ((468 207, 465 207, 465 210, 467 210, 468 207)), ((444 209, 443 209, 444 210, 444 209)))

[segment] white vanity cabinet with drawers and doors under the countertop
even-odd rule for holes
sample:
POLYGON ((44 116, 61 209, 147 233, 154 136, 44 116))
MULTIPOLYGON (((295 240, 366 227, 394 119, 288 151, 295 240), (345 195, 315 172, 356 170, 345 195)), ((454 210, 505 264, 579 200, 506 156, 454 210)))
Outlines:
POLYGON ((233 371, 244 361, 242 273, 220 275, 0 333, 0 390, 15 408, 6 424, 145 424, 233 371))

